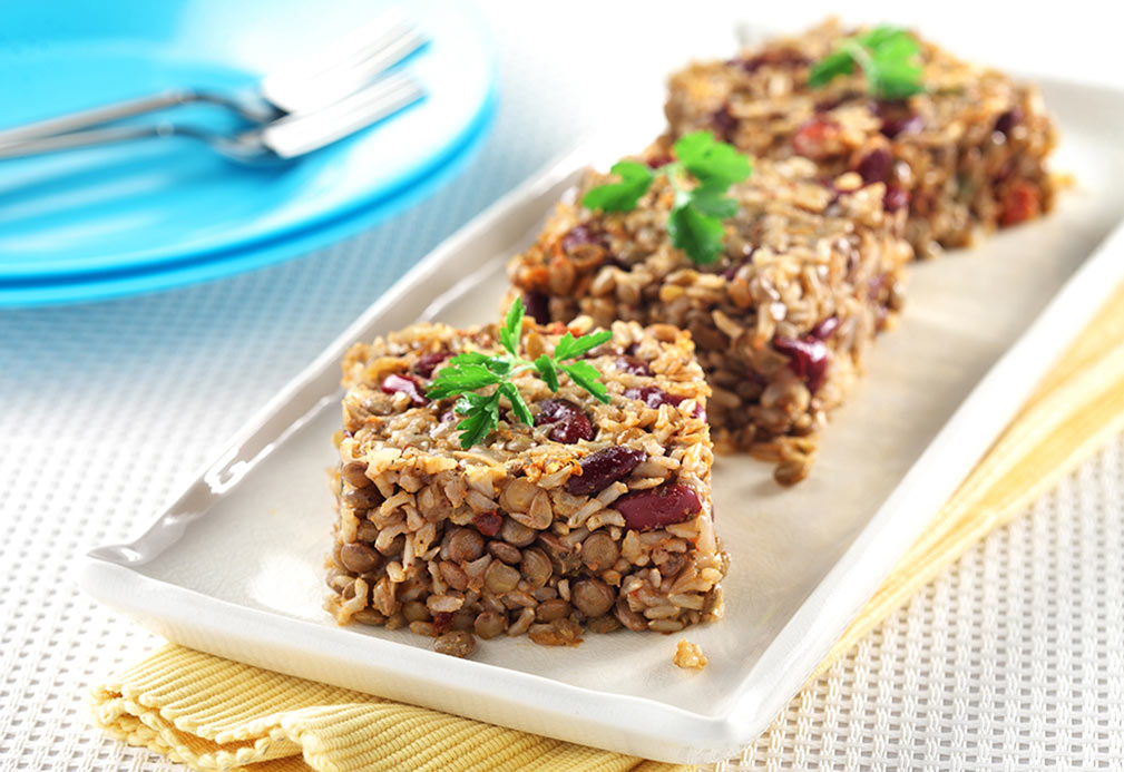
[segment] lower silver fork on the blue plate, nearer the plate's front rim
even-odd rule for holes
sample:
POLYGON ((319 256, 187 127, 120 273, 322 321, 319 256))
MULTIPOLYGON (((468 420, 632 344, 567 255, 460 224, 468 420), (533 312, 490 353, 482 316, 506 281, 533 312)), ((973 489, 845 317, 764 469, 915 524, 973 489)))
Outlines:
POLYGON ((107 126, 0 145, 0 160, 158 137, 198 139, 242 163, 294 158, 393 115, 423 96, 422 87, 413 78, 393 73, 323 109, 282 116, 243 131, 223 134, 170 121, 107 126))

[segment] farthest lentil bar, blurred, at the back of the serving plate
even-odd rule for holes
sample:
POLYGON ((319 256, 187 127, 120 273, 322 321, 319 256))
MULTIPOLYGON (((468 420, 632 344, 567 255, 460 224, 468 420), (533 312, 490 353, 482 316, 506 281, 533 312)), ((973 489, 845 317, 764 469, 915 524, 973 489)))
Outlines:
POLYGON ((711 129, 755 156, 803 155, 826 176, 853 170, 886 182, 886 206, 908 208, 907 237, 922 257, 1052 207, 1045 162, 1057 129, 1037 89, 924 40, 925 93, 878 101, 858 72, 810 88, 812 65, 856 31, 830 20, 676 73, 671 135, 711 129))

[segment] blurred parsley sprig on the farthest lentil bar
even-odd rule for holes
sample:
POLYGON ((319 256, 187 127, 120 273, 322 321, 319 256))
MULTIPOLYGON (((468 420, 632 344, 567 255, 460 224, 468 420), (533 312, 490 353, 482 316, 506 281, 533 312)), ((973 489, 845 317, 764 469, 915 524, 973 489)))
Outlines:
POLYGON ((818 89, 840 75, 850 75, 855 63, 862 69, 867 90, 878 99, 905 99, 925 90, 917 38, 887 25, 841 42, 812 67, 808 85, 818 89))

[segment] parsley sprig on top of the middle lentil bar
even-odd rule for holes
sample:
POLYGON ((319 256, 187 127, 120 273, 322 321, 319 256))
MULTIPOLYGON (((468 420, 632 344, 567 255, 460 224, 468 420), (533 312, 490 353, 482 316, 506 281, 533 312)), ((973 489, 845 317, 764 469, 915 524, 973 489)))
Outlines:
POLYGON ((658 170, 636 161, 619 161, 610 173, 620 182, 609 182, 589 190, 581 203, 601 211, 632 211, 651 188, 658 174, 667 175, 676 191, 668 216, 671 243, 696 263, 718 260, 725 235, 722 221, 737 214, 737 202, 726 196, 729 187, 743 182, 753 167, 733 145, 717 142, 709 131, 687 134, 673 146, 676 161, 658 170), (698 183, 685 187, 690 175, 698 183))

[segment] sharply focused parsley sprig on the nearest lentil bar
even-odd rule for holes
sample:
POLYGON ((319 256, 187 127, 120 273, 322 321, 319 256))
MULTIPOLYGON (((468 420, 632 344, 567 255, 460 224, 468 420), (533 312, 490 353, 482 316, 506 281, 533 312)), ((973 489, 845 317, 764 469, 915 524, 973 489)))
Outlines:
POLYGON ((551 391, 559 390, 559 373, 565 373, 571 381, 599 401, 606 403, 609 401, 609 393, 600 382, 600 373, 591 364, 578 357, 611 338, 613 333, 602 329, 579 337, 566 333, 554 346, 553 355, 542 354, 532 362, 519 355, 519 335, 525 312, 523 300, 517 298, 508 309, 504 327, 499 330, 499 342, 504 346, 504 353, 457 354, 437 371, 437 378, 426 392, 433 400, 460 397, 453 410, 464 416, 464 420, 457 424, 456 428, 461 432, 461 447, 465 451, 499 426, 500 397, 506 397, 511 403, 511 412, 518 420, 527 425, 534 423, 531 408, 513 380, 522 373, 536 371, 551 391), (490 393, 478 393, 488 387, 496 389, 490 393))

